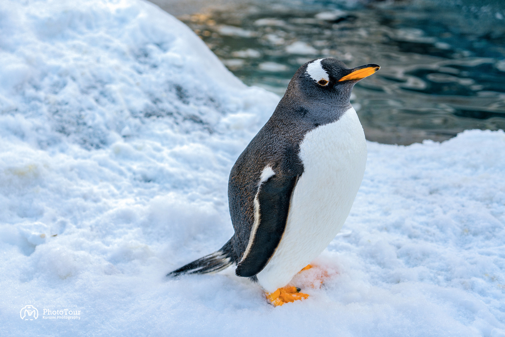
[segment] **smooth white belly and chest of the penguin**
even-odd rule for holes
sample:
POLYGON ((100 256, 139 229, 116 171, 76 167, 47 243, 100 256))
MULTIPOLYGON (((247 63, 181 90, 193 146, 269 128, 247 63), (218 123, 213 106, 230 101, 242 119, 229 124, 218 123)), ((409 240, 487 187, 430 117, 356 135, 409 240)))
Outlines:
POLYGON ((270 262, 257 274, 267 292, 285 286, 328 246, 349 215, 367 161, 358 115, 350 108, 319 126, 300 145, 304 173, 291 199, 286 229, 270 262))

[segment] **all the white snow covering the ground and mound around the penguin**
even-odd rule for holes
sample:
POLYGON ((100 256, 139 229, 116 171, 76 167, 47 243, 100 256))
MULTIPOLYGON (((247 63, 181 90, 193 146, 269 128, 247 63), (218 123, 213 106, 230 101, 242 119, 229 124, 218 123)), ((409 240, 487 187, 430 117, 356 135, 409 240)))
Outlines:
POLYGON ((279 98, 148 3, 0 16, 0 335, 505 335, 503 131, 369 142, 311 297, 274 308, 233 268, 165 274, 233 233, 229 170, 279 98))

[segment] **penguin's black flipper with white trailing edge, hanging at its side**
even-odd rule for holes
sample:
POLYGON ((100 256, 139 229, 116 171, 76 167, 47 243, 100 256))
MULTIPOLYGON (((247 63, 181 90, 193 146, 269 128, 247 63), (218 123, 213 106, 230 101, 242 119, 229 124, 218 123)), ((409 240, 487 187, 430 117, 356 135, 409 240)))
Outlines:
POLYGON ((286 228, 289 204, 297 175, 273 175, 263 182, 255 198, 255 224, 235 274, 251 277, 265 268, 279 246, 286 228))

